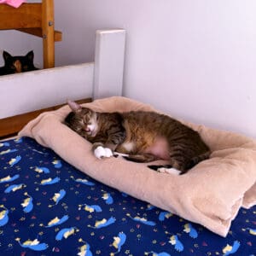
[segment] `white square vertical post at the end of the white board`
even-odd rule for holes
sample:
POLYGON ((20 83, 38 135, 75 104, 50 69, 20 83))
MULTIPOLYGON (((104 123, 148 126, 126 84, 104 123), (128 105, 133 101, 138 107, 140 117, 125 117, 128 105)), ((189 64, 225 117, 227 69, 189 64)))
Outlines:
POLYGON ((96 31, 93 98, 122 96, 125 30, 96 31))

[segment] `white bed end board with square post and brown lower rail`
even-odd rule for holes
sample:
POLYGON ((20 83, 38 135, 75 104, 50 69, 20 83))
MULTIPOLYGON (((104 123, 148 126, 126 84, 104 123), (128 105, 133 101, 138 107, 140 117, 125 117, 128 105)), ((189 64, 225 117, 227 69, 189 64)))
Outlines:
POLYGON ((124 60, 125 30, 98 30, 94 62, 1 76, 0 139, 67 99, 81 103, 121 96, 124 60))

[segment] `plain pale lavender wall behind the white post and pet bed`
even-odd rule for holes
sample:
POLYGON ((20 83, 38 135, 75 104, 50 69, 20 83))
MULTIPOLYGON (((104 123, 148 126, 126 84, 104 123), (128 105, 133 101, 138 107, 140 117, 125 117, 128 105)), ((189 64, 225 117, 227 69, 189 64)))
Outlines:
POLYGON ((255 9, 254 0, 55 0, 56 65, 92 61, 95 30, 125 28, 125 96, 256 137, 255 9))

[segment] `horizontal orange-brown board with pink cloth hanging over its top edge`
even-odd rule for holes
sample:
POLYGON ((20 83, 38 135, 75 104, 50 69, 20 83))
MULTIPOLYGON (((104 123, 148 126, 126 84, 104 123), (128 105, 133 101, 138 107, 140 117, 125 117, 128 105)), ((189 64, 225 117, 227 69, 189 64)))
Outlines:
POLYGON ((18 9, 0 4, 0 30, 41 27, 41 3, 23 3, 18 9))

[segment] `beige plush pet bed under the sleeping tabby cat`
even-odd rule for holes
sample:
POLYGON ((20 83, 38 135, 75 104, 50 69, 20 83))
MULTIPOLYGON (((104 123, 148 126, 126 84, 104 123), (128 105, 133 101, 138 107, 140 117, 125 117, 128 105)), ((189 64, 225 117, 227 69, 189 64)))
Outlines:
MULTIPOLYGON (((84 104, 96 111, 154 110, 125 97, 84 104)), ((228 131, 190 125, 212 149, 211 158, 182 176, 159 173, 122 158, 98 160, 91 144, 62 124, 68 106, 42 113, 20 136, 33 137, 102 183, 226 236, 240 207, 256 204, 256 142, 228 131)))

